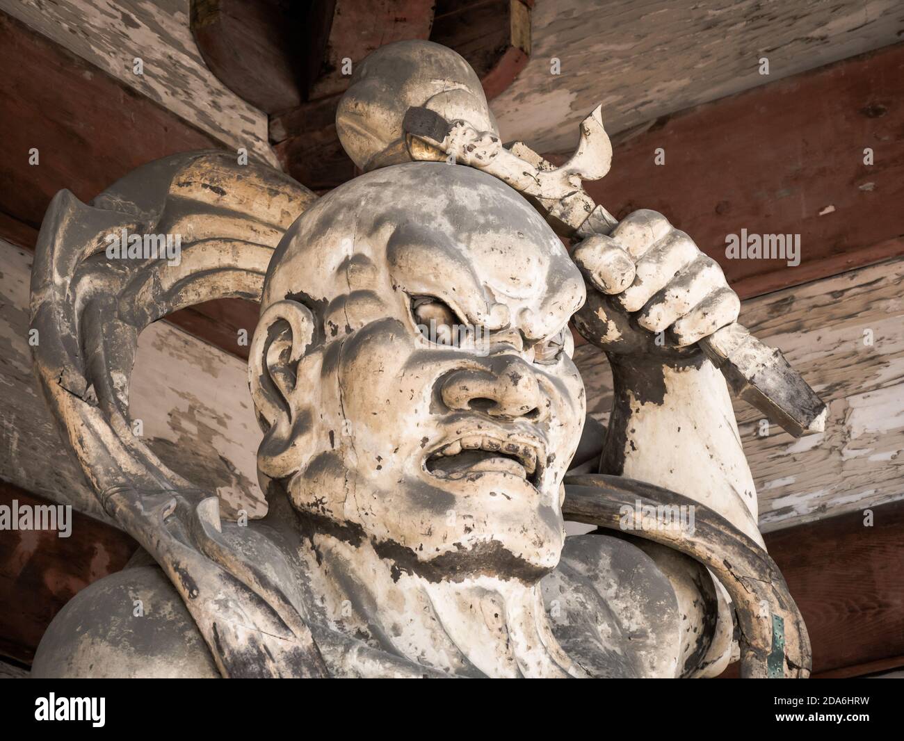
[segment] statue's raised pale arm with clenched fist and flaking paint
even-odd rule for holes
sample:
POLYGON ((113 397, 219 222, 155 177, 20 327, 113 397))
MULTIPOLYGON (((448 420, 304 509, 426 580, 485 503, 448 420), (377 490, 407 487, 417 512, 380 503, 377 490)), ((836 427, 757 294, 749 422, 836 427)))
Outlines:
POLYGON ((588 286, 575 325, 614 380, 600 473, 683 493, 762 543, 725 380, 694 347, 738 317, 719 265, 655 211, 585 239, 573 258, 588 286))

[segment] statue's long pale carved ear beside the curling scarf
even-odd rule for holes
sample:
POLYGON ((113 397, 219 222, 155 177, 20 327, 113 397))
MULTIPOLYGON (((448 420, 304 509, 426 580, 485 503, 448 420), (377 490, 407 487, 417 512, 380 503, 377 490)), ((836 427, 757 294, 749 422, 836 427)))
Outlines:
POLYGON ((278 301, 260 315, 251 341, 248 381, 262 426, 291 427, 298 361, 314 337, 314 315, 297 301, 278 301))

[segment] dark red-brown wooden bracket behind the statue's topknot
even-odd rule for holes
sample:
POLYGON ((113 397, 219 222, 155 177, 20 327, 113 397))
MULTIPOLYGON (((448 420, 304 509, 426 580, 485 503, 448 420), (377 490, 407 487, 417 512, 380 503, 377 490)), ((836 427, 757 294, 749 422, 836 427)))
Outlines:
MULTIPOLYGON (((199 10, 205 4, 196 5, 199 10)), ((214 4, 217 17, 227 14, 228 3, 214 4)), ((527 63, 531 51, 530 8, 521 0, 457 0, 435 5, 420 0, 392 0, 372 5, 348 3, 315 4, 309 9, 303 33, 291 36, 304 39, 308 59, 306 64, 305 102, 288 106, 291 85, 287 84, 287 68, 297 69, 297 59, 291 52, 272 58, 270 52, 250 52, 260 69, 248 70, 247 57, 234 51, 255 44, 263 35, 268 43, 279 45, 297 23, 295 9, 280 8, 270 16, 270 24, 261 34, 261 25, 244 22, 236 13, 232 24, 240 26, 240 44, 218 42, 230 33, 229 23, 210 23, 215 38, 205 39, 202 29, 196 28, 205 56, 211 58, 212 69, 232 89, 253 88, 253 94, 243 97, 258 100, 261 108, 271 111, 270 141, 287 173, 315 192, 323 192, 350 180, 355 167, 345 154, 335 130, 336 106, 350 76, 343 70, 343 61, 351 61, 352 69, 363 57, 378 46, 405 39, 426 39, 454 49, 465 57, 480 78, 485 93, 493 97, 508 87, 527 63), (363 17, 367 22, 363 22, 363 17), (431 22, 432 21, 432 28, 431 22), (279 29, 273 28, 278 25, 279 29), (221 26, 218 33, 214 26, 221 26), (252 26, 249 31, 249 26, 252 26), (247 37, 247 38, 245 38, 247 37), (208 48, 210 53, 208 53, 208 48), (265 74, 266 73, 266 74, 265 74), (261 75, 269 78, 266 85, 255 81, 261 75), (271 89, 282 92, 271 95, 271 89), (253 95, 254 97, 251 97, 253 95), (268 99, 267 96, 271 99, 268 99)), ((231 11, 229 11, 231 13, 231 11)), ((199 14, 200 15, 200 14, 199 14)), ((258 12, 255 12, 258 15, 258 12)), ((296 77, 301 77, 297 75, 296 77)))

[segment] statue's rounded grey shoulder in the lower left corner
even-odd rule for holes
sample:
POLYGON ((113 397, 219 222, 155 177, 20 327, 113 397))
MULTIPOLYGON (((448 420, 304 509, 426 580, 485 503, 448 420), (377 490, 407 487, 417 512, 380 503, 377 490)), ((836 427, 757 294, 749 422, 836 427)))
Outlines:
POLYGON ((32 675, 216 678, 220 672, 179 593, 153 565, 111 574, 74 596, 44 633, 32 675))

